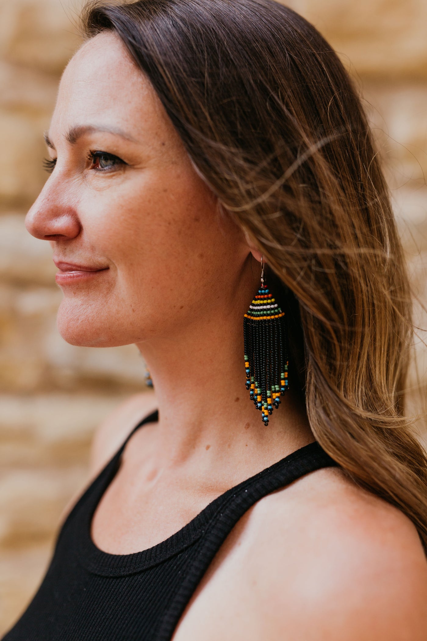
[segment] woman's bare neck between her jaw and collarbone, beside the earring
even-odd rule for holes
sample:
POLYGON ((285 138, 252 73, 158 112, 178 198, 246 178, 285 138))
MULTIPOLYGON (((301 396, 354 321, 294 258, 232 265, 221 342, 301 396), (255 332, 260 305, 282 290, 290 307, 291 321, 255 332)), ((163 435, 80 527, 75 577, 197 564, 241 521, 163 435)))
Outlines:
POLYGON ((243 347, 243 314, 254 293, 249 291, 169 337, 138 344, 156 390, 159 452, 168 465, 213 448, 223 462, 237 460, 238 467, 249 460, 256 471, 314 440, 292 392, 282 397, 268 426, 250 400, 243 347))

